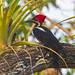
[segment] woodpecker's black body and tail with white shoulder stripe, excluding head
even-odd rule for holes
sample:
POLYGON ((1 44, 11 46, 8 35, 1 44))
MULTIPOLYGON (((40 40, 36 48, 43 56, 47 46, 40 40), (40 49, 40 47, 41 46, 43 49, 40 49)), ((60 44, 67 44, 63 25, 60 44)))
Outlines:
MULTIPOLYGON (((48 28, 41 25, 36 25, 33 28, 33 33, 35 37, 40 41, 40 43, 49 48, 52 48, 58 53, 63 53, 63 47, 61 46, 61 43, 59 43, 57 38, 52 34, 52 32, 48 28)), ((55 53, 53 54, 53 59, 54 67, 58 68, 58 56, 55 53)))

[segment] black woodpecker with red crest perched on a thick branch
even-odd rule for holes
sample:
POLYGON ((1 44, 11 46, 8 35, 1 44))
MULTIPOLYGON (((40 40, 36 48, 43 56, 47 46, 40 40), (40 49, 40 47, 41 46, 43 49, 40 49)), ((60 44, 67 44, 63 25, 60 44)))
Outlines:
MULTIPOLYGON (((42 26, 45 18, 46 16, 39 14, 36 15, 32 20, 26 22, 35 23, 33 33, 41 44, 55 50, 57 53, 64 53, 64 48, 57 40, 57 38, 53 35, 53 33, 48 28, 42 26)), ((59 68, 58 56, 55 53, 53 53, 53 63, 54 68, 59 68)))

